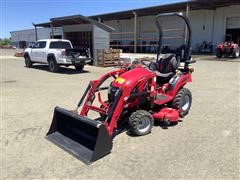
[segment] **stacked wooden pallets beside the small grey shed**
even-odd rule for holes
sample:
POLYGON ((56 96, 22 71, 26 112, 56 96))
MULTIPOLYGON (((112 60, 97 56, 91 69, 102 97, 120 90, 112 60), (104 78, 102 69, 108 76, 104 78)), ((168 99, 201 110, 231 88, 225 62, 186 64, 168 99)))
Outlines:
POLYGON ((97 50, 97 64, 100 67, 111 67, 117 66, 120 53, 122 52, 121 49, 98 49, 97 50))

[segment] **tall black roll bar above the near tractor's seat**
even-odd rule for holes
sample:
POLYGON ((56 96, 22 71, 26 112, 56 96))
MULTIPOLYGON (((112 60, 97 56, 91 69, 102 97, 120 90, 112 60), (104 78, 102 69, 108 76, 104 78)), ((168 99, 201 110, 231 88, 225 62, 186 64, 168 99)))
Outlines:
POLYGON ((190 48, 191 48, 191 38, 192 38, 192 30, 191 30, 191 25, 190 25, 190 21, 188 19, 188 17, 186 17, 185 15, 183 15, 182 13, 164 13, 164 14, 158 14, 156 16, 156 25, 159 31, 159 40, 158 40, 158 49, 157 49, 157 62, 159 60, 159 56, 161 53, 161 48, 162 48, 162 26, 159 22, 159 19, 161 17, 167 17, 167 16, 177 16, 180 17, 184 20, 185 24, 187 25, 187 30, 188 30, 188 36, 187 36, 187 42, 186 42, 186 52, 185 52, 185 61, 187 61, 190 57, 190 48))

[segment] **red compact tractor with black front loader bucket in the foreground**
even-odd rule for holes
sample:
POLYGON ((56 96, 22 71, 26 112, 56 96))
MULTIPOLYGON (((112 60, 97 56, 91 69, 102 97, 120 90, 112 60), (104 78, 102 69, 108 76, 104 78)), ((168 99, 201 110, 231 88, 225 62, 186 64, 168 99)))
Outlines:
POLYGON ((181 13, 156 16, 159 47, 156 62, 125 64, 90 81, 74 111, 56 107, 46 138, 89 164, 111 152, 120 124, 136 136, 151 132, 154 121, 169 125, 189 113, 192 95, 184 86, 192 81, 191 27, 181 13), (177 16, 186 23, 187 42, 160 57, 162 27, 159 19, 177 16), (110 80, 112 79, 112 80, 110 80), (110 80, 110 81, 109 81, 110 80), (106 85, 106 82, 110 82, 106 85), (103 91, 107 91, 103 100, 103 91), (89 112, 97 112, 92 119, 89 112))

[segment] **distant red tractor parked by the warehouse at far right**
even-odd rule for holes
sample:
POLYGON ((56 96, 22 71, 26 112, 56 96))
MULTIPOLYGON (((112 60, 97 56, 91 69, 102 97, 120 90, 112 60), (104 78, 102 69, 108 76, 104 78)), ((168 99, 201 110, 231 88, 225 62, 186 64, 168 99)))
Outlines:
POLYGON ((225 35, 225 42, 217 46, 216 56, 217 58, 222 57, 238 58, 239 52, 240 52, 239 45, 232 41, 231 34, 227 34, 225 35))

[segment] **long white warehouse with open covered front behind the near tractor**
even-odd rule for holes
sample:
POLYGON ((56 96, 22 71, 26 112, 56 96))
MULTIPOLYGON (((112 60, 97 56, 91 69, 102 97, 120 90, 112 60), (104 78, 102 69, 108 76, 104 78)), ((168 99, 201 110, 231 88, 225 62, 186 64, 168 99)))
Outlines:
MULTIPOLYGON (((154 52, 158 39, 155 15, 167 12, 184 12, 189 16, 193 32, 193 51, 197 51, 203 41, 212 42, 213 47, 216 47, 218 43, 224 41, 225 34, 231 34, 232 40, 240 43, 239 0, 184 1, 100 14, 90 18, 116 29, 111 33, 113 48, 122 48, 125 52, 154 52)), ((173 30, 178 30, 179 27, 174 18, 169 18, 165 25, 173 30)), ((171 37, 166 43, 172 44, 178 41, 178 38, 171 37)))

